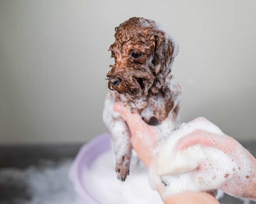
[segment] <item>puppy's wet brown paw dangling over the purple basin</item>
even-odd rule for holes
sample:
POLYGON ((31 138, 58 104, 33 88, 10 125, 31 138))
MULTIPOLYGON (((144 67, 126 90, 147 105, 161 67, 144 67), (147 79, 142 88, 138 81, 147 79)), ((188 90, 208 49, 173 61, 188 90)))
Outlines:
POLYGON ((117 178, 121 181, 125 181, 127 175, 129 175, 129 166, 131 158, 127 156, 122 157, 122 161, 116 164, 117 178))

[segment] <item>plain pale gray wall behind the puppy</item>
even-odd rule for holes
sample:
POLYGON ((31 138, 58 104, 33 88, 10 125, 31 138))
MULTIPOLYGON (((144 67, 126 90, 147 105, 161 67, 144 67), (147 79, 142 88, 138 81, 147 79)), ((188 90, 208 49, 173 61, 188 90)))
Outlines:
POLYGON ((101 114, 114 27, 154 19, 180 45, 182 122, 256 139, 256 1, 0 0, 0 143, 87 141, 101 114))

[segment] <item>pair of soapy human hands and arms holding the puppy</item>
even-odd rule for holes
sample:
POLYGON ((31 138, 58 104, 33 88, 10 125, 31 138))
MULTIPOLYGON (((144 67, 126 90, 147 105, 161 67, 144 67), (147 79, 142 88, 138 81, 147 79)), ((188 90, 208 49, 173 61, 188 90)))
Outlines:
MULTIPOLYGON (((160 179, 158 181, 156 179, 155 187, 165 203, 169 204, 174 201, 176 203, 177 201, 186 203, 188 202, 187 199, 189 199, 189 203, 192 201, 196 203, 218 203, 210 193, 205 193, 210 192, 212 189, 222 189, 233 196, 256 200, 255 158, 236 140, 222 133, 217 126, 205 118, 197 118, 187 123, 186 127, 175 130, 159 147, 159 143, 161 143, 159 139, 161 137, 159 137, 156 126, 147 125, 140 115, 130 113, 122 103, 116 103, 114 110, 120 112, 126 119, 132 134, 133 148, 143 163, 149 169, 151 166, 157 165, 158 173, 155 172, 155 176, 161 178, 164 182, 161 184, 159 182, 160 179), (203 126, 202 124, 207 125, 203 126), (184 129, 188 131, 184 132, 184 129), (173 137, 174 134, 177 136, 173 137), (201 150, 203 153, 197 155, 197 152, 201 150), (189 151, 195 152, 195 155, 189 154, 189 151), (214 151, 223 155, 223 157, 218 158, 218 162, 214 161, 213 157, 216 155, 214 151), (187 161, 180 162, 178 158, 187 159, 187 161), (221 177, 219 175, 222 174, 218 174, 216 166, 219 163, 221 164, 222 160, 226 161, 225 159, 229 160, 229 158, 229 163, 234 166, 237 165, 237 168, 231 169, 232 172, 226 173, 221 177), (208 166, 208 169, 204 166, 210 164, 207 159, 213 160, 211 162, 212 166, 208 166), (212 175, 211 173, 217 174, 212 175), (189 176, 184 181, 188 183, 189 179, 193 182, 197 181, 195 178, 199 178, 195 183, 195 190, 188 188, 188 190, 184 189, 185 191, 183 192, 172 194, 174 190, 172 189, 173 182, 166 184, 165 181, 176 181, 174 177, 178 174, 189 176), (203 176, 197 177, 198 175, 203 176), (209 176, 212 180, 208 182, 209 176), (210 186, 207 187, 207 185, 210 186), (203 191, 205 192, 202 193, 203 191)), ((229 170, 229 164, 222 165, 222 168, 229 170)), ((182 183, 182 178, 180 178, 179 182, 182 183)))

